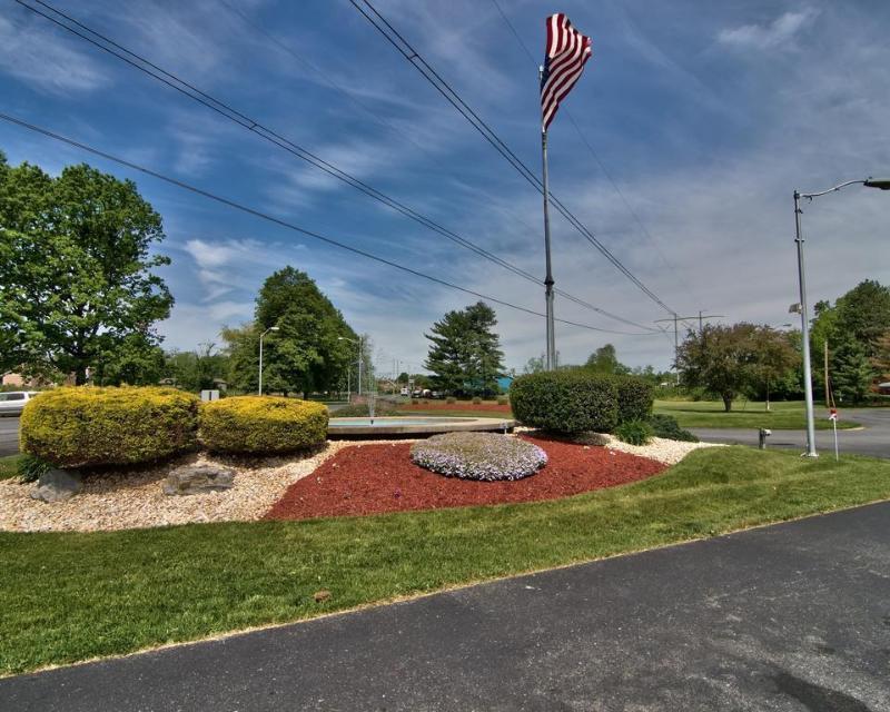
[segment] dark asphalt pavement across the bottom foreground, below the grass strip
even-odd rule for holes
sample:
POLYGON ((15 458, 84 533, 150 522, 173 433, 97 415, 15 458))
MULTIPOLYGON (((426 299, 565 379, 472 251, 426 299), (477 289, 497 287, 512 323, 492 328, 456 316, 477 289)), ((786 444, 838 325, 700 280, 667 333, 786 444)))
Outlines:
POLYGON ((0 680, 0 709, 878 712, 889 663, 884 503, 0 680))

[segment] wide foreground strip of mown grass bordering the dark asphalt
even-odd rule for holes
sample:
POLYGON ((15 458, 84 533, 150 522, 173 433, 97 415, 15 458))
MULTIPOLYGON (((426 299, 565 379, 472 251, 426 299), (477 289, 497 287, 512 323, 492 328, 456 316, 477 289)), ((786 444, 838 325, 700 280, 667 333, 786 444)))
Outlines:
POLYGON ((576 497, 314 522, 0 533, 0 672, 127 653, 890 498, 890 463, 698 451, 576 497), (315 603, 313 593, 333 597, 315 603))

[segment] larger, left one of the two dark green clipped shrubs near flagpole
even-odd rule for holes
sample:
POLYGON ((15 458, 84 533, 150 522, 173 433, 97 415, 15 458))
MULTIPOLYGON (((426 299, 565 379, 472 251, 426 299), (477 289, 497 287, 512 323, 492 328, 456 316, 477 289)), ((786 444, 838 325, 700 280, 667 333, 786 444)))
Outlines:
POLYGON ((611 433, 619 422, 615 379, 582 369, 520 376, 510 402, 521 423, 554 433, 611 433))

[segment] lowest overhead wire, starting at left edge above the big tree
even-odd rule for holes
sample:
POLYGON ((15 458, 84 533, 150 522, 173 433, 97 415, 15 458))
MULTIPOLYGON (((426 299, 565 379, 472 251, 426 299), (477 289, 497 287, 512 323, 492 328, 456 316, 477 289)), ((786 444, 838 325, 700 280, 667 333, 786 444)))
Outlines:
MULTIPOLYGON (((258 218, 260 218, 263 220, 267 220, 269 222, 273 222, 273 224, 278 225, 280 227, 287 228, 289 230, 294 230, 296 233, 300 233, 303 235, 306 235, 307 237, 312 237, 312 238, 315 238, 317 240, 320 240, 322 243, 326 243, 328 245, 333 245, 334 247, 339 247, 340 249, 348 250, 348 251, 350 251, 350 253, 353 253, 355 255, 360 255, 362 257, 367 257, 368 259, 373 259, 374 261, 380 263, 383 265, 387 265, 388 267, 393 267, 395 269, 399 269, 402 271, 406 271, 409 275, 414 275, 415 277, 421 277, 423 279, 427 279, 429 281, 436 283, 436 284, 442 285, 444 287, 448 287, 449 289, 456 289, 458 291, 463 291, 464 294, 468 294, 468 295, 472 295, 474 297, 478 297, 479 299, 485 299, 487 301, 492 301, 494 304, 500 304, 502 306, 510 307, 510 308, 516 309, 518 312, 524 312, 525 314, 531 314, 533 316, 540 316, 540 317, 544 317, 545 316, 541 312, 535 312, 534 309, 530 309, 527 307, 523 307, 523 306, 513 304, 512 301, 506 301, 504 299, 498 299, 496 297, 491 297, 488 295, 482 294, 481 291, 475 291, 473 289, 468 289, 467 287, 461 287, 459 285, 456 285, 454 283, 447 281, 445 279, 441 279, 439 277, 434 277, 432 275, 427 275, 425 273, 422 273, 422 271, 419 271, 417 269, 412 269, 411 267, 405 267, 404 265, 399 265, 398 263, 394 263, 394 261, 392 261, 389 259, 386 259, 385 257, 378 257, 377 255, 374 255, 373 253, 369 253, 367 250, 363 250, 363 249, 360 249, 358 247, 353 247, 352 245, 347 245, 346 243, 342 243, 342 241, 336 240, 336 239, 334 239, 332 237, 326 237, 325 235, 322 235, 320 233, 315 233, 314 230, 309 230, 309 229, 299 227, 298 225, 295 225, 294 222, 288 222, 287 220, 283 220, 280 218, 276 218, 275 216, 271 216, 268 212, 263 212, 261 210, 257 210, 256 208, 251 208, 251 207, 246 206, 246 205, 244 205, 241 202, 237 202, 236 200, 233 200, 230 198, 225 198, 222 196, 219 196, 219 195, 216 195, 214 192, 210 192, 209 190, 205 190, 204 188, 198 188, 197 186, 192 186, 191 184, 187 184, 184 180, 179 180, 178 178, 171 178, 170 176, 165 176, 164 174, 160 174, 160 172, 158 172, 156 170, 151 170, 150 168, 146 168, 145 166, 140 166, 139 164, 136 164, 134 161, 126 160, 126 159, 120 158, 118 156, 113 156, 112 154, 108 154, 106 151, 102 151, 102 150, 100 150, 98 148, 93 148, 93 147, 88 146, 86 144, 81 144, 80 141, 77 141, 77 140, 71 139, 71 138, 67 138, 65 136, 61 136, 60 134, 56 134, 55 131, 51 131, 49 129, 39 127, 39 126, 34 125, 34 123, 30 123, 28 121, 24 121, 22 119, 16 118, 16 117, 10 116, 8 113, 0 112, 0 119, 3 120, 3 121, 8 121, 9 123, 14 123, 17 126, 20 126, 21 128, 28 129, 30 131, 34 131, 37 134, 41 134, 41 135, 43 135, 43 136, 46 136, 48 138, 55 139, 57 141, 61 141, 62 144, 67 144, 69 146, 73 146, 75 148, 79 148, 80 150, 85 150, 85 151, 87 151, 89 154, 92 154, 93 156, 99 156, 100 158, 105 158, 106 160, 113 161, 113 162, 116 162, 116 164, 118 164, 120 166, 125 166, 125 167, 130 168, 132 170, 138 170, 139 172, 146 174, 147 176, 151 176, 152 178, 157 178, 158 180, 162 180, 162 181, 168 182, 170 185, 174 185, 174 186, 176 186, 178 188, 182 188, 184 190, 188 190, 190 192, 194 192, 196 195, 202 196, 202 197, 208 198, 210 200, 215 200, 216 202, 220 202, 220 204, 222 204, 225 206, 228 206, 230 208, 234 208, 236 210, 240 210, 241 212, 247 212, 248 215, 253 215, 254 217, 258 217, 258 218)), ((611 329, 599 328, 596 326, 591 326, 590 324, 578 324, 577 322, 570 322, 567 319, 557 319, 557 320, 563 323, 563 324, 567 324, 570 326, 576 326, 578 328, 590 329, 592 332, 605 332, 607 334, 622 334, 622 335, 625 335, 625 336, 650 336, 651 335, 651 333, 632 334, 632 333, 627 333, 627 332, 613 332, 611 329)))

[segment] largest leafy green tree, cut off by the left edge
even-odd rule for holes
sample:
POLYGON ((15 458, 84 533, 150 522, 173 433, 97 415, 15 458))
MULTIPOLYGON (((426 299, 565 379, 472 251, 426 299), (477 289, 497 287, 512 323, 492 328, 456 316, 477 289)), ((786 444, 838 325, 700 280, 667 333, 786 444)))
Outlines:
POLYGON ((87 165, 52 178, 0 154, 0 368, 73 373, 160 342, 174 299, 152 269, 160 216, 130 180, 87 165), (131 350, 131 349, 130 349, 131 350))

